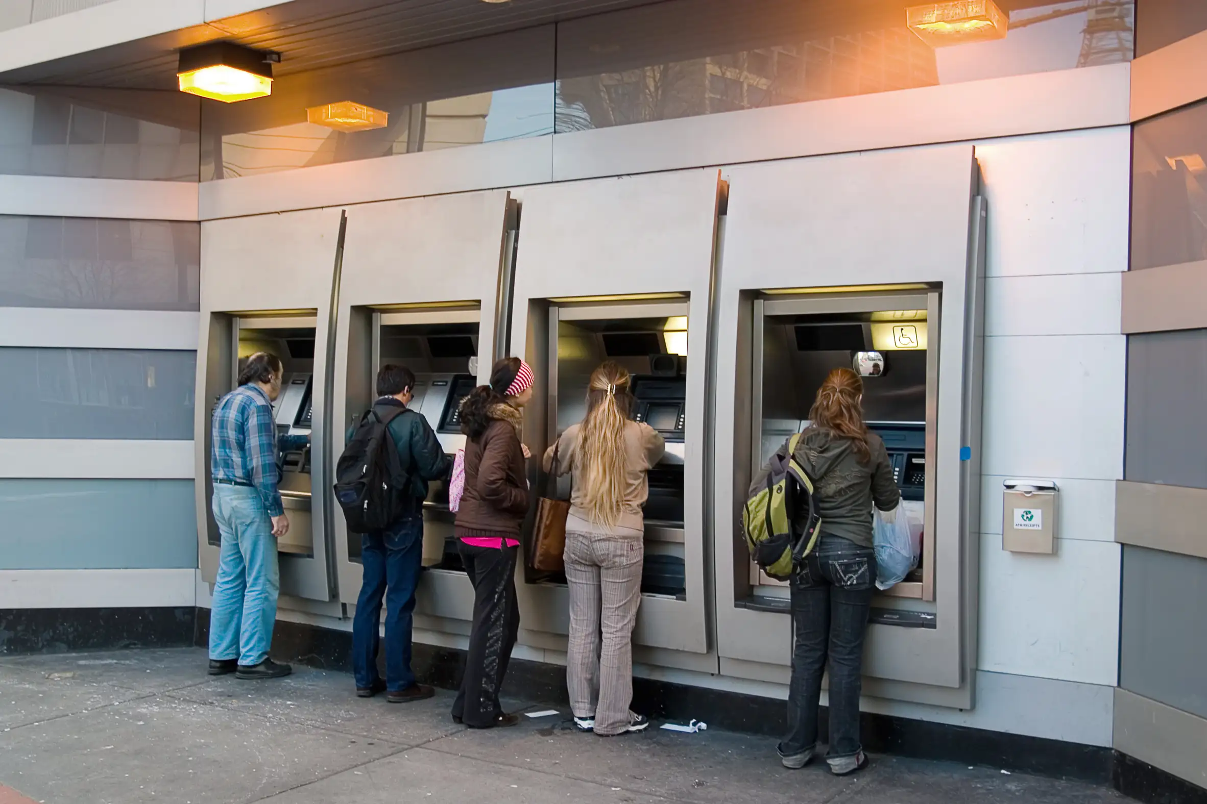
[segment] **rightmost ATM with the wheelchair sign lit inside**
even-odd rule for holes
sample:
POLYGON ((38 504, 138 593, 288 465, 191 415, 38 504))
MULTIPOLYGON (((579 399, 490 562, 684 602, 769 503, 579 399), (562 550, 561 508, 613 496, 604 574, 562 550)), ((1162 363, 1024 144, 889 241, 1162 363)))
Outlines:
MULTIPOLYGON (((824 376, 863 407, 921 561, 876 595, 864 694, 975 705, 985 228, 967 145, 729 169, 717 292, 716 612, 721 673, 786 683, 788 589, 751 564, 740 512, 766 457, 807 427, 824 376)), ((869 521, 873 511, 868 511, 869 521)))

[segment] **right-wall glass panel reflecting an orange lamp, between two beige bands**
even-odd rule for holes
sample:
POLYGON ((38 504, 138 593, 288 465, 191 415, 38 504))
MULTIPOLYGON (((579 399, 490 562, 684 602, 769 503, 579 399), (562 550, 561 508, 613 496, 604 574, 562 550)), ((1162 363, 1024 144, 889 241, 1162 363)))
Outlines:
POLYGON ((1207 101, 1138 123, 1132 270, 1207 259, 1207 101))

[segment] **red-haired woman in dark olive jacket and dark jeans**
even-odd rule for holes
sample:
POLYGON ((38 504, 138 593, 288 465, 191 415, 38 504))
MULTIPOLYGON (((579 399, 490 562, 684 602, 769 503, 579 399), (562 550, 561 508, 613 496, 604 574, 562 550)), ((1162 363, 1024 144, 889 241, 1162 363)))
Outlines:
MULTIPOLYGON (((779 745, 786 768, 803 768, 817 745, 817 709, 827 658, 829 752, 826 762, 839 776, 867 767, 859 743, 859 693, 863 639, 876 583, 871 507, 892 511, 900 503, 888 453, 863 421, 863 381, 851 369, 834 369, 817 391, 810 424, 791 456, 812 481, 799 494, 805 510, 794 524, 821 520, 812 551, 792 573, 792 627, 795 647, 788 692, 788 734, 779 745)), ((788 458, 788 445, 776 453, 788 458)), ((775 458, 772 458, 775 460, 775 458)), ((751 487, 765 482, 766 471, 751 487)), ((794 528, 795 529, 795 528, 794 528)))

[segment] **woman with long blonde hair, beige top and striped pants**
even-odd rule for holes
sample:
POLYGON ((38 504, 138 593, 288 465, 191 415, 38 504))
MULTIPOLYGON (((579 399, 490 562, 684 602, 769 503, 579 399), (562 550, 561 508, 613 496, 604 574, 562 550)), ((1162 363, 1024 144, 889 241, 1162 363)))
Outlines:
POLYGON ((566 685, 575 723, 611 736, 640 732, 649 720, 632 703, 632 627, 641 605, 647 473, 665 450, 663 436, 634 422, 632 378, 613 363, 594 372, 587 417, 544 454, 544 469, 571 475, 566 520, 570 646, 566 685))

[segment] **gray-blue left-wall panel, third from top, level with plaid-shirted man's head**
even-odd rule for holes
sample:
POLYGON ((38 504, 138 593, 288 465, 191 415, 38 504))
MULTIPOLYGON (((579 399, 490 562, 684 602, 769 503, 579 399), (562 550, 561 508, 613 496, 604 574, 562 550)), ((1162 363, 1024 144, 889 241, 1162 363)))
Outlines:
POLYGON ((197 353, 0 347, 0 439, 193 438, 197 353))

